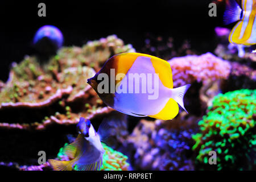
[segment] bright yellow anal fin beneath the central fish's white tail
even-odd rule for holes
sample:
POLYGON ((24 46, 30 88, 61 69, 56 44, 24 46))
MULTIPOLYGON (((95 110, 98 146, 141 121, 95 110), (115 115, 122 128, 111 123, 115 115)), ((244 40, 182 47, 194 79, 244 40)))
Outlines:
POLYGON ((179 106, 173 98, 170 98, 164 108, 155 115, 148 115, 151 118, 170 120, 179 113, 179 106))

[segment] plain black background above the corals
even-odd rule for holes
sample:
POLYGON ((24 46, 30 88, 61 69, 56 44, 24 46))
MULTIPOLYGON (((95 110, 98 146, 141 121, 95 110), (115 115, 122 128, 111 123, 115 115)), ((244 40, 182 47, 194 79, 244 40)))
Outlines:
POLYGON ((214 27, 222 25, 222 10, 209 17, 209 0, 158 1, 1 1, 0 80, 6 81, 10 64, 34 53, 33 36, 45 24, 58 27, 64 46, 116 34, 140 52, 145 34, 172 36, 179 44, 188 39, 201 52, 215 48, 214 27), (38 4, 46 3, 46 17, 38 4))

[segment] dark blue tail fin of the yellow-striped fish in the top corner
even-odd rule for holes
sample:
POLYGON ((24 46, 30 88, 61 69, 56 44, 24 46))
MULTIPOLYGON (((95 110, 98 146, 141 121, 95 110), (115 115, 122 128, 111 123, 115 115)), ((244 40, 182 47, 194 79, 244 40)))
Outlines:
POLYGON ((230 0, 227 2, 226 10, 224 12, 224 24, 230 24, 237 22, 241 19, 242 9, 236 2, 236 0, 230 0))

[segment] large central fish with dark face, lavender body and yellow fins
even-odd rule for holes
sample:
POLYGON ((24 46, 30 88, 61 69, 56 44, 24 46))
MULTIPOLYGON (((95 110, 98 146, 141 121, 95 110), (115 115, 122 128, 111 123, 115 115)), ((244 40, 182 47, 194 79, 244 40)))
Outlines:
POLYGON ((88 79, 88 84, 96 90, 106 105, 121 113, 163 120, 173 119, 179 113, 178 104, 185 110, 183 97, 190 86, 188 84, 173 88, 170 64, 143 53, 121 53, 112 56, 94 77, 88 79), (107 88, 104 86, 107 92, 99 90, 104 75, 108 76, 107 80, 110 78, 108 85, 105 85, 107 88), (119 77, 120 75, 123 76, 119 77), (134 81, 143 80, 143 75, 144 78, 148 76, 146 81, 134 81), (156 97, 154 98, 152 92, 130 92, 136 87, 139 91, 143 88, 154 88, 156 97))

